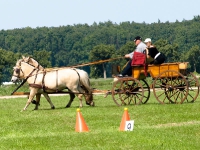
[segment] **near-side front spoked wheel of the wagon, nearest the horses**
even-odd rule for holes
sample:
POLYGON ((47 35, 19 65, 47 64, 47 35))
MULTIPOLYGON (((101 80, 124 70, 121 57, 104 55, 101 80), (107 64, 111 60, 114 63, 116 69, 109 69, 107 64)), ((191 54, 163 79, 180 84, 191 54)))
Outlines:
POLYGON ((144 89, 139 80, 132 77, 118 78, 112 87, 112 98, 118 106, 138 105, 144 97, 144 89))

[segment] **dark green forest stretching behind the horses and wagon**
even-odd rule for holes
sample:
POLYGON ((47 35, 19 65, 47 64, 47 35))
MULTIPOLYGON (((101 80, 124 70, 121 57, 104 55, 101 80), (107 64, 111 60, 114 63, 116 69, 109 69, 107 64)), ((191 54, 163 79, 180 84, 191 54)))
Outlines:
MULTIPOLYGON (((73 66, 123 56, 135 49, 133 38, 151 38, 167 56, 167 62, 189 62, 192 72, 200 72, 200 16, 173 23, 147 24, 112 21, 92 25, 20 28, 0 31, 0 82, 9 81, 16 61, 32 56, 43 67, 73 66)), ((123 66, 125 59, 85 66, 91 78, 100 78, 111 65, 123 66), (105 69, 105 71, 103 70, 105 69)))

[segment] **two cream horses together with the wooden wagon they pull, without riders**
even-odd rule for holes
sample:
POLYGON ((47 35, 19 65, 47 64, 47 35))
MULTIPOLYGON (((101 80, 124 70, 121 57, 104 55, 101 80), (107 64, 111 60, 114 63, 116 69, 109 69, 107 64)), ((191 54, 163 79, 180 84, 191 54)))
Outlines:
MULTIPOLYGON (((108 60, 98 61, 97 63, 107 61, 108 60)), ((161 65, 147 65, 145 67, 140 65, 133 66, 131 77, 114 77, 111 90, 90 91, 88 88, 89 83, 86 72, 81 71, 80 69, 73 69, 73 74, 70 76, 67 72, 68 69, 72 69, 70 67, 44 69, 36 60, 28 57, 23 58, 16 63, 12 80, 24 78, 25 81, 29 80, 29 82, 31 82, 31 84, 29 83, 31 92, 26 93, 28 95, 30 94, 31 97, 29 96, 24 110, 28 107, 35 95, 36 98, 38 96, 35 108, 37 109, 41 94, 44 94, 51 107, 54 108, 48 94, 59 92, 70 94, 70 102, 67 105, 68 107, 73 101, 74 94, 79 95, 78 97, 80 101, 82 100, 80 95, 89 97, 87 99, 89 100, 87 101, 87 104, 94 105, 91 95, 99 92, 103 92, 106 96, 112 95, 114 102, 118 106, 144 104, 149 100, 151 90, 153 90, 155 98, 161 104, 181 104, 185 100, 187 102, 194 102, 199 94, 199 81, 194 74, 187 71, 187 64, 187 62, 177 62, 163 63, 161 65), (149 76, 148 78, 146 77, 147 74, 149 76), (67 76, 69 76, 69 78, 67 76), (70 89, 69 86, 71 85, 68 84, 67 80, 72 82, 72 76, 76 77, 73 84, 77 84, 77 86, 72 85, 72 88, 70 89), (148 81, 147 79, 150 80, 148 81), (80 82, 82 83, 81 86, 79 86, 80 82), (67 92, 63 92, 65 86, 68 88, 67 92), (78 93, 78 91, 81 92, 78 93)), ((17 95, 18 93, 13 92, 13 94, 17 95)), ((82 104, 80 104, 80 107, 81 106, 82 104)))

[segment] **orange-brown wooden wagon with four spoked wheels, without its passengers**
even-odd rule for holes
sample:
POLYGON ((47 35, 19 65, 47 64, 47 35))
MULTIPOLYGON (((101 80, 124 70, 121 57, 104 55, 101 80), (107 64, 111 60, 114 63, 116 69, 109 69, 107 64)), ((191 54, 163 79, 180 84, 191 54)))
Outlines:
POLYGON ((187 62, 132 67, 132 77, 116 78, 112 98, 117 105, 146 103, 152 90, 159 103, 194 102, 199 81, 187 71, 187 62), (148 73, 147 81, 145 74, 148 73), (150 83, 149 83, 150 82, 150 83), (150 85, 150 86, 149 86, 150 85))

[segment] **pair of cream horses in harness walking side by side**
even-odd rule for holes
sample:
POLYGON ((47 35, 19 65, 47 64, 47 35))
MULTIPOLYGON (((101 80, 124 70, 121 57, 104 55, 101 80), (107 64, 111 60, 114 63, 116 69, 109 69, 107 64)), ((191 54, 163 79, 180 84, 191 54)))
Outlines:
POLYGON ((48 93, 56 93, 67 89, 70 100, 66 107, 70 107, 75 95, 80 100, 79 107, 82 107, 82 97, 85 97, 86 104, 94 106, 92 88, 87 72, 77 68, 57 68, 45 70, 36 60, 31 57, 22 57, 13 67, 12 82, 24 79, 29 84, 30 95, 22 111, 26 110, 33 98, 36 96, 34 110, 38 109, 41 94, 44 95, 52 109, 55 108, 48 93))

